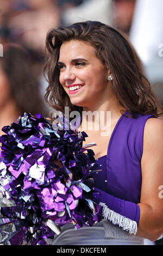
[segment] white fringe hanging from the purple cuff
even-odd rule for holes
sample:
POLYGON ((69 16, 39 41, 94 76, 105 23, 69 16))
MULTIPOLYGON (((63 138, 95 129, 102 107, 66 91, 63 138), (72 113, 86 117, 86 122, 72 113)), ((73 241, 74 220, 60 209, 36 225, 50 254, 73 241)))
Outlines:
POLYGON ((129 218, 117 214, 117 212, 110 210, 104 203, 99 203, 103 207, 103 217, 105 220, 112 222, 112 224, 118 225, 123 230, 129 231, 130 234, 136 235, 137 223, 129 218))

